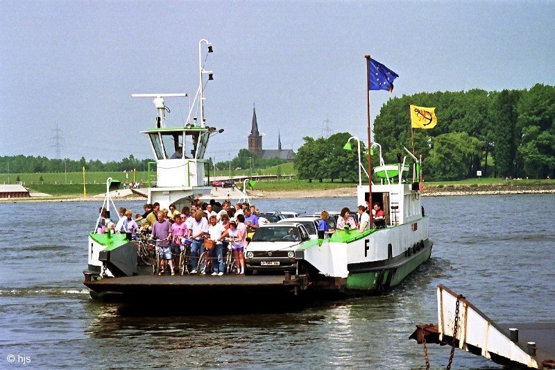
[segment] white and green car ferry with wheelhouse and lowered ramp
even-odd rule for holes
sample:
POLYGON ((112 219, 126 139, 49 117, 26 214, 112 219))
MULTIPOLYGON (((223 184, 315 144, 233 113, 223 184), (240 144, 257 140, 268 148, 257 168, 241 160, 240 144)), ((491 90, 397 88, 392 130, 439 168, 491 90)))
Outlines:
MULTIPOLYGON (((207 126, 204 118, 203 78, 205 75, 210 78, 212 72, 206 71, 201 63, 202 44, 212 51, 210 42, 200 40, 199 85, 193 108, 182 126, 166 126, 168 109, 164 98, 187 94, 133 94, 153 97, 157 110, 155 127, 142 133, 148 136, 156 158, 156 186, 148 188, 148 203, 159 202, 161 208, 175 203, 180 209, 189 205, 195 196, 209 194, 211 190, 210 180, 205 180, 204 154, 210 137, 223 130, 207 126), (195 107, 200 119, 191 117, 195 107)), ((375 147, 379 148, 380 163, 370 173, 379 178, 379 184, 361 184, 360 169, 364 167, 359 151, 357 203, 366 205, 368 201, 377 201, 382 204, 385 214, 382 223, 372 224, 369 230, 362 232, 336 230, 325 239, 306 238, 296 244, 293 253, 288 251, 281 255, 268 251, 267 255, 257 253, 258 261, 257 258, 250 260, 251 265, 266 262, 264 265, 276 267, 284 262, 280 258, 287 258, 284 265, 293 267, 291 269, 253 276, 154 276, 152 269, 137 266, 137 246, 126 239, 126 235, 89 233, 84 284, 91 289, 93 298, 116 294, 144 299, 164 293, 209 298, 219 294, 222 301, 225 297, 233 301, 251 298, 263 303, 268 302, 263 297, 311 301, 316 296, 383 294, 429 259, 432 242, 416 182, 420 171, 418 160, 407 151, 409 155, 402 161, 398 155, 397 164, 386 165, 381 146, 373 143, 370 149, 375 147), (407 178, 410 167, 413 170, 411 181, 407 178)), ((110 181, 105 198, 108 208, 111 202, 109 187, 110 181)), ((116 210, 115 205, 113 208, 116 210)), ((245 252, 248 255, 248 247, 245 252)))

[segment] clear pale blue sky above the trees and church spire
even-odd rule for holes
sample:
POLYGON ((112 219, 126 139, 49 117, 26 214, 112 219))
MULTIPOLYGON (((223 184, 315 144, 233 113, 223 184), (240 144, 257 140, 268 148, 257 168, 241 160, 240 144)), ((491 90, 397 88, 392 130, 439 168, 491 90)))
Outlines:
MULTIPOLYGON (((207 124, 225 129, 207 156, 247 146, 253 103, 264 149, 326 117, 366 138, 365 55, 400 76, 373 116, 402 94, 555 85, 554 19, 554 1, 2 1, 0 155, 55 158, 58 125, 62 158, 152 157, 155 109, 130 94, 194 93, 201 38, 207 124)), ((167 105, 180 124, 189 100, 167 105)))

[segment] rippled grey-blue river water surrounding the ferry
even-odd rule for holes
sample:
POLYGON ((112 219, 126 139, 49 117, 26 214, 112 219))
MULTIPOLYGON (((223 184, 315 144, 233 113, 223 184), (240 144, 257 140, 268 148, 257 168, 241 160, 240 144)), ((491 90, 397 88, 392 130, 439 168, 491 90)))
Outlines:
MULTIPOLYGON (((101 204, 2 203, 0 369, 261 367, 425 369, 409 340, 436 323, 436 286, 464 294, 498 322, 553 321, 555 194, 423 199, 432 258, 386 296, 300 312, 178 317, 160 298, 152 315, 96 303, 83 286, 86 232, 101 204), (12 355, 13 357, 10 357, 12 355), (14 360, 13 363, 8 360, 14 360), (23 362, 26 362, 24 365, 23 362)), ((355 199, 271 199, 260 210, 355 208, 355 199)), ((139 212, 142 203, 117 203, 139 212)), ((229 305, 210 302, 185 304, 229 305)), ((449 348, 429 348, 432 369, 449 348)), ((452 369, 501 369, 456 351, 452 369)))

